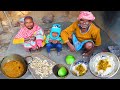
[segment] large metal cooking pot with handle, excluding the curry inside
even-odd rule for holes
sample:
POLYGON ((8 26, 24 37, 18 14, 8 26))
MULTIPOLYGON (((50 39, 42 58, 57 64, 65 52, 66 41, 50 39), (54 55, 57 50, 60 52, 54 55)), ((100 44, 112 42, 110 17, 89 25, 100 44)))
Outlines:
MULTIPOLYGON (((30 57, 30 56, 27 56, 27 57, 30 57)), ((8 63, 8 62, 13 61, 13 60, 17 60, 17 61, 20 61, 23 64, 23 66, 24 66, 24 72, 23 72, 23 74, 21 76, 19 76, 19 77, 16 77, 16 78, 21 78, 27 72, 27 69, 28 69, 28 63, 26 61, 27 57, 22 57, 21 55, 18 55, 18 54, 11 54, 9 56, 5 56, 2 59, 2 61, 0 62, 0 70, 1 70, 2 74, 4 76, 6 76, 7 78, 11 78, 11 77, 8 77, 5 74, 5 72, 3 70, 3 66, 4 66, 5 63, 8 63)))

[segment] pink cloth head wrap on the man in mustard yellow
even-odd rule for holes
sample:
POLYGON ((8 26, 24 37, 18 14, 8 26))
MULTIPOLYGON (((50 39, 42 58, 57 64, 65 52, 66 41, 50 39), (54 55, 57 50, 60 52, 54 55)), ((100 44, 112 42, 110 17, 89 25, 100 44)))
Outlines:
POLYGON ((86 20, 94 21, 95 20, 95 16, 92 14, 92 12, 81 11, 77 19, 78 20, 80 20, 80 19, 86 19, 86 20))

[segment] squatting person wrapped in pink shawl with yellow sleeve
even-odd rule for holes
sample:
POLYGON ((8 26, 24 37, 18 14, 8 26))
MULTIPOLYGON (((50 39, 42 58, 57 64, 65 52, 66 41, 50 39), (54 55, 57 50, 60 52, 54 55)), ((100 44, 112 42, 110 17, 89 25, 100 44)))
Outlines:
POLYGON ((31 16, 24 18, 24 27, 20 29, 13 40, 14 44, 23 44, 27 51, 37 50, 44 46, 44 32, 34 23, 31 16))

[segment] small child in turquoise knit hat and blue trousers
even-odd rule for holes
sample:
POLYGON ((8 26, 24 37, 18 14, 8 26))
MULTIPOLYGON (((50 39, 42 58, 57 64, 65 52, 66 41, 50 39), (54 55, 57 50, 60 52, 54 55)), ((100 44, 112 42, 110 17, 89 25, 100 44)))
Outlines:
POLYGON ((61 25, 54 24, 51 28, 50 34, 47 35, 46 38, 46 49, 48 52, 48 57, 50 57, 50 49, 56 48, 57 54, 60 55, 60 51, 62 50, 62 39, 60 37, 61 33, 61 25))

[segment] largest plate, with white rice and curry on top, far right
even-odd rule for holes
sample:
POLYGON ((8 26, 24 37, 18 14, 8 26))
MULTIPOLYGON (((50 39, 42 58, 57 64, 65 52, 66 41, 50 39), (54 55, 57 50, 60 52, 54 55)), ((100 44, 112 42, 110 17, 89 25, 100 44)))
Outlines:
POLYGON ((120 63, 116 55, 101 52, 90 59, 89 68, 92 74, 99 78, 111 78, 119 70, 120 63))

